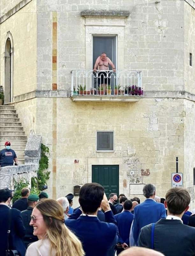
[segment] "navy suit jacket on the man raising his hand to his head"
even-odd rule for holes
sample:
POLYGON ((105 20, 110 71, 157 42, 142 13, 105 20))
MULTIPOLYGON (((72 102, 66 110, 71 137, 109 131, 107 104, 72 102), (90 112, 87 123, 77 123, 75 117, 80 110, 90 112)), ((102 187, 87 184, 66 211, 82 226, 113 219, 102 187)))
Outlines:
POLYGON ((97 216, 80 216, 77 220, 65 220, 68 228, 75 233, 83 244, 85 256, 106 256, 118 242, 118 228, 112 211, 105 212, 106 223, 97 216))

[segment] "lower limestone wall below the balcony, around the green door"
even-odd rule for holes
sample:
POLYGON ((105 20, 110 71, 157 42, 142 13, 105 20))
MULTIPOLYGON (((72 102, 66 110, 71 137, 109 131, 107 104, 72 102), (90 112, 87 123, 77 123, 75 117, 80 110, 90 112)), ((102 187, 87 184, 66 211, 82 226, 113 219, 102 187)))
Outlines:
POLYGON ((171 172, 176 170, 176 156, 184 170, 184 108, 181 99, 116 104, 59 98, 57 196, 90 182, 92 164, 119 164, 119 193, 133 196, 129 184, 152 182, 158 196, 165 196, 171 172), (96 152, 96 131, 105 130, 114 131, 114 152, 96 152), (141 176, 141 169, 149 169, 150 175, 141 176))

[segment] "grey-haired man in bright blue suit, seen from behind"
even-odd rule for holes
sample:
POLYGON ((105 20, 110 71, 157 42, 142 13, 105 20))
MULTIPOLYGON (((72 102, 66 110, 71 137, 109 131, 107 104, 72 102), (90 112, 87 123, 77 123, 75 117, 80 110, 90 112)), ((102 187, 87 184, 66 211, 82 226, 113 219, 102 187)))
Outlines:
POLYGON ((132 232, 135 244, 138 242, 138 237, 142 227, 156 222, 161 218, 166 218, 165 207, 163 204, 159 204, 154 200, 155 194, 155 185, 146 184, 143 187, 143 195, 146 197, 146 200, 134 208, 132 232))

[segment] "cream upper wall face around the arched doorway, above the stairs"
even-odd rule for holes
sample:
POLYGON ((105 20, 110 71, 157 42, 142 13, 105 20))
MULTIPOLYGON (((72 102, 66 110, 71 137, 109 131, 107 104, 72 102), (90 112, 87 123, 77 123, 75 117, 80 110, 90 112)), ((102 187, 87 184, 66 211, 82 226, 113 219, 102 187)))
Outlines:
POLYGON ((8 31, 13 36, 13 96, 36 89, 37 14, 36 0, 31 1, 0 24, 0 84, 4 85, 4 44, 8 31))

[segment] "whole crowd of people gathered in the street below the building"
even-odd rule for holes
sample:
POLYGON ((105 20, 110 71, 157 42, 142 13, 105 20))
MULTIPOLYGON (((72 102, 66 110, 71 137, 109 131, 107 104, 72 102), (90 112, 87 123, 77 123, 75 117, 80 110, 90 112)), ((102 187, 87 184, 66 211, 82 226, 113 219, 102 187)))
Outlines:
POLYGON ((2 256, 195 256, 195 211, 185 188, 159 198, 146 184, 141 203, 124 194, 107 199, 100 184, 86 183, 76 209, 73 194, 54 200, 29 188, 11 207, 13 192, 0 189, 2 256))

